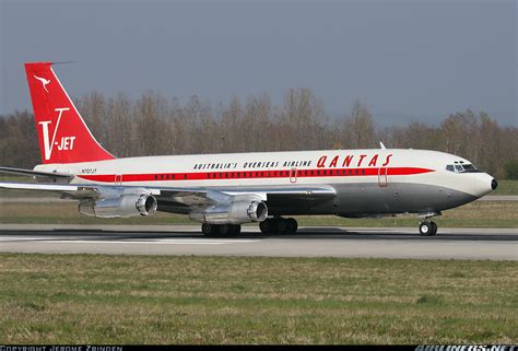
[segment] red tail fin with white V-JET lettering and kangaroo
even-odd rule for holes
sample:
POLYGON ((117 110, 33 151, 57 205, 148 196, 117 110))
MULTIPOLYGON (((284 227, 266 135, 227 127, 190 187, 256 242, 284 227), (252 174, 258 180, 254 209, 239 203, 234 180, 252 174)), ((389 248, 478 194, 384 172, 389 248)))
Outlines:
POLYGON ((115 159, 92 136, 51 65, 25 63, 43 163, 115 159))

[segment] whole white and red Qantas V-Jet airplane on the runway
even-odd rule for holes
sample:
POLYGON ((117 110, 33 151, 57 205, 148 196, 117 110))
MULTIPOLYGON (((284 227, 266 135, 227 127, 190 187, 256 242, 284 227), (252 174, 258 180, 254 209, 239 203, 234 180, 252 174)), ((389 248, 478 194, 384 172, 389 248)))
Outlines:
POLYGON ((242 224, 290 234, 290 215, 380 218, 416 214, 421 235, 432 218, 471 202, 497 182, 462 157, 428 150, 380 149, 187 154, 117 159, 90 132, 51 68, 25 63, 42 164, 0 167, 36 183, 0 188, 46 190, 79 201, 95 218, 181 213, 205 236, 232 236, 242 224))

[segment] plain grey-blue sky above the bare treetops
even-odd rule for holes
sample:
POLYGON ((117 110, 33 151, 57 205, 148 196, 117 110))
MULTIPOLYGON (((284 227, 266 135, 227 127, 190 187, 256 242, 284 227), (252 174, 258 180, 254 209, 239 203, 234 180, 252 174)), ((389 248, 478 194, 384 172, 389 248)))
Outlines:
POLYGON ((0 0, 0 114, 30 108, 23 62, 72 96, 149 90, 213 105, 307 86, 333 115, 381 125, 486 110, 517 122, 516 1, 0 0))

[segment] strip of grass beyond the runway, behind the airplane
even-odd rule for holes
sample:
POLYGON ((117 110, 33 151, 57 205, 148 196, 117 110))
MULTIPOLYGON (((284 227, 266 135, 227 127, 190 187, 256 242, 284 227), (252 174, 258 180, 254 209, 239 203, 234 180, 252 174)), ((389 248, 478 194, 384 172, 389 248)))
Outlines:
MULTIPOLYGON (((474 201, 434 219, 439 226, 518 227, 518 201, 474 201)), ((386 219, 342 219, 333 215, 296 217, 313 226, 416 226, 415 215, 386 219)), ((81 215, 76 203, 9 203, 0 207, 0 223, 37 224, 195 224, 187 215, 157 213, 150 218, 96 219, 81 215)))

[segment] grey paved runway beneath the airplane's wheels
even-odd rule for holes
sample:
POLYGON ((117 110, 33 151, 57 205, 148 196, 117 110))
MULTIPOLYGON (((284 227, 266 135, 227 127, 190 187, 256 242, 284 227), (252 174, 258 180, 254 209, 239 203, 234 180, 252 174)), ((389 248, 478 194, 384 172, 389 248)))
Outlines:
POLYGON ((254 226, 238 237, 208 238, 198 226, 0 224, 1 253, 376 257, 518 260, 516 229, 301 227, 296 235, 263 236, 254 226))

